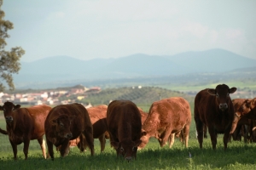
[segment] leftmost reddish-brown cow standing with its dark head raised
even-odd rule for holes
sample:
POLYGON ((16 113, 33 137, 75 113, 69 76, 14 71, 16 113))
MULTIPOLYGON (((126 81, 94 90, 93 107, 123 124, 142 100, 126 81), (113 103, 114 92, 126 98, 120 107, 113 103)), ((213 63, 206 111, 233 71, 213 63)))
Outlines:
POLYGON ((9 101, 0 106, 0 111, 3 111, 5 117, 6 130, 15 159, 17 159, 17 145, 21 143, 24 143, 23 152, 27 159, 29 143, 33 139, 38 139, 43 156, 46 158, 44 121, 50 110, 51 107, 48 105, 20 108, 20 105, 14 105, 9 101))

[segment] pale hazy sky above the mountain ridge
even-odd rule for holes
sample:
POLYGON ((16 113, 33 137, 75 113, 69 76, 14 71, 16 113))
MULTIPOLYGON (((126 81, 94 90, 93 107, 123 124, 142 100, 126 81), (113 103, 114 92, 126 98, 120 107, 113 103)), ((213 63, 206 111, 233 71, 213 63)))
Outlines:
POLYGON ((3 0, 21 61, 223 48, 256 59, 255 0, 3 0))

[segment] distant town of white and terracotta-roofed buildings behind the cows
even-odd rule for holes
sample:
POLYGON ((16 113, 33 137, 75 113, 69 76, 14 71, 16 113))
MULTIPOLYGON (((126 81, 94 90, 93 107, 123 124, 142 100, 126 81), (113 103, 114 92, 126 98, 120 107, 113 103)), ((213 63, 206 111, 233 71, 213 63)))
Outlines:
MULTIPOLYGON (((70 88, 69 90, 42 90, 40 93, 26 93, 26 94, 6 94, 0 92, 0 105, 5 101, 11 101, 15 105, 65 105, 73 103, 74 100, 60 100, 61 97, 68 97, 76 95, 77 99, 84 99, 88 93, 99 93, 101 88, 85 88, 80 85, 78 88, 70 88)), ((83 104, 85 107, 90 107, 90 104, 83 104)))

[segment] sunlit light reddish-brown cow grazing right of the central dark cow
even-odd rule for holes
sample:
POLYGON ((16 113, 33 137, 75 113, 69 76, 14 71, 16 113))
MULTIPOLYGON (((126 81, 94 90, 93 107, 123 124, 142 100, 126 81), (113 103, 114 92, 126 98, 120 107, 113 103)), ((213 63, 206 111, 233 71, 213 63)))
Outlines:
POLYGON ((148 144, 150 137, 158 139, 160 146, 163 147, 172 135, 170 144, 173 144, 175 133, 182 130, 185 146, 188 147, 190 123, 191 111, 186 99, 172 97, 155 101, 148 111, 148 118, 143 123, 142 144, 139 145, 139 149, 143 149, 148 144))

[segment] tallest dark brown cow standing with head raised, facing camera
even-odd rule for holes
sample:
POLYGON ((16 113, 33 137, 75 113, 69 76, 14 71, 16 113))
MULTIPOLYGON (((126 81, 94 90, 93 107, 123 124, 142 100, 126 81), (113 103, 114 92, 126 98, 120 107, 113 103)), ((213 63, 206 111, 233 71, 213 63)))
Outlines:
POLYGON ((227 148, 234 118, 234 106, 230 99, 230 94, 235 92, 236 88, 229 88, 225 84, 219 84, 215 89, 206 88, 196 94, 194 118, 200 148, 202 148, 204 124, 207 125, 211 136, 212 149, 216 149, 218 133, 224 133, 224 150, 227 148))

